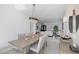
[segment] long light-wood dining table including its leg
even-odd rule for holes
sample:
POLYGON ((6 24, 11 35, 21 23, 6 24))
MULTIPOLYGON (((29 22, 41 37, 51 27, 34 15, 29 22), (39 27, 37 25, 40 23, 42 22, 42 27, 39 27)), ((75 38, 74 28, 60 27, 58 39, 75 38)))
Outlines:
POLYGON ((39 41, 41 35, 28 35, 24 39, 16 39, 9 41, 14 48, 20 50, 22 54, 26 54, 29 51, 31 45, 39 41))

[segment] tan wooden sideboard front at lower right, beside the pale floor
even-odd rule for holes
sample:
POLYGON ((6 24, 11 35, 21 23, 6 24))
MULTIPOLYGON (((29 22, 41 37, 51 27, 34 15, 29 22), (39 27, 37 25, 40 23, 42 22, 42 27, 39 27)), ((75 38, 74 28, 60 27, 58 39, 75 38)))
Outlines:
POLYGON ((76 54, 70 50, 69 42, 70 41, 60 40, 60 54, 76 54))

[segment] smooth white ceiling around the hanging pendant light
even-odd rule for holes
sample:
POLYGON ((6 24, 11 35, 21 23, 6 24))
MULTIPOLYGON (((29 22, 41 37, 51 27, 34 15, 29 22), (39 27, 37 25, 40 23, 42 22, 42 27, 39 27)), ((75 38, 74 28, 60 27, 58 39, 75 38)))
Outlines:
MULTIPOLYGON (((67 4, 36 4, 36 17, 40 21, 61 20, 65 15, 67 6, 67 4)), ((32 4, 26 4, 24 9, 25 14, 32 15, 32 4)))

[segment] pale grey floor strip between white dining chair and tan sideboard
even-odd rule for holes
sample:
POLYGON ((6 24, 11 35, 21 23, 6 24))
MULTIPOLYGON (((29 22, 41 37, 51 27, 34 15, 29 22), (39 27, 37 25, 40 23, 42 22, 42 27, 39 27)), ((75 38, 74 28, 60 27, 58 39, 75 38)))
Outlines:
POLYGON ((48 37, 45 54, 59 54, 59 39, 48 37))

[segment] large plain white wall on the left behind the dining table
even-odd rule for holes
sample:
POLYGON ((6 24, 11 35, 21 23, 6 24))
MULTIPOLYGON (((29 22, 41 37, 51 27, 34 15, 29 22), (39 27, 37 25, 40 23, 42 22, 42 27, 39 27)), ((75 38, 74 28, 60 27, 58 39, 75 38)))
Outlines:
POLYGON ((0 5, 0 49, 9 45, 8 41, 15 40, 18 33, 29 32, 28 14, 11 5, 0 5))

